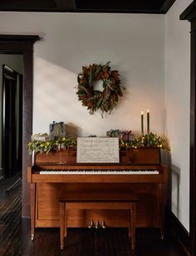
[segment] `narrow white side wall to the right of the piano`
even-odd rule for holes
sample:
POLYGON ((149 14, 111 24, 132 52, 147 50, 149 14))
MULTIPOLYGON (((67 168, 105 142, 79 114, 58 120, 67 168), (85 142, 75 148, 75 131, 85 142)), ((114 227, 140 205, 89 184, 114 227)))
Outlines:
POLYGON ((191 0, 178 0, 166 15, 165 132, 171 146, 171 207, 189 230, 190 24, 179 15, 191 0))

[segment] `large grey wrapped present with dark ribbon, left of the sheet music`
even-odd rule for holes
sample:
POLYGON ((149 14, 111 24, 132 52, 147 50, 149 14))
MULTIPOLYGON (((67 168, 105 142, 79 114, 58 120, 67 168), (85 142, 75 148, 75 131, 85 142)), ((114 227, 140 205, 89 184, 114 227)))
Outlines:
POLYGON ((49 125, 49 138, 50 140, 58 140, 66 136, 65 124, 63 122, 53 121, 49 125))

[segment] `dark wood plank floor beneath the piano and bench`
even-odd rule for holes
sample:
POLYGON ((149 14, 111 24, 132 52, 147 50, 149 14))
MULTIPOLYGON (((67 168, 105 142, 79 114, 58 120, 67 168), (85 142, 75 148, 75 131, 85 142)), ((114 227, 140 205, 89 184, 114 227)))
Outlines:
MULTIPOLYGON (((63 251, 59 228, 37 228, 30 239, 30 221, 21 218, 21 182, 9 192, 0 192, 1 256, 132 256, 127 228, 68 228, 63 251)), ((185 256, 172 238, 161 240, 157 228, 137 229, 137 256, 185 256)))

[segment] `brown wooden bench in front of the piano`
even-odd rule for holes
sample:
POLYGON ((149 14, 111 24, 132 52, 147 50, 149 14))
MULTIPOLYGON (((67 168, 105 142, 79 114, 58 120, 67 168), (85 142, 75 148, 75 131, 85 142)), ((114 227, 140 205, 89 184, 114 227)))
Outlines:
POLYGON ((60 248, 64 248, 64 238, 67 237, 68 209, 123 209, 128 210, 128 237, 130 238, 131 248, 134 250, 137 201, 137 195, 130 191, 62 192, 59 197, 60 248))

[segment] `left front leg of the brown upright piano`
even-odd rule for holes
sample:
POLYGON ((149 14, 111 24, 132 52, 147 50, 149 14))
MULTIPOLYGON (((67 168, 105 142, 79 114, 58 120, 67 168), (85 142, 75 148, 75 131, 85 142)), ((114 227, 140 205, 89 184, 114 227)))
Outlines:
POLYGON ((31 239, 35 236, 35 192, 36 184, 30 183, 30 207, 31 207, 31 239))

